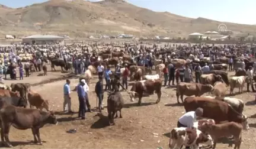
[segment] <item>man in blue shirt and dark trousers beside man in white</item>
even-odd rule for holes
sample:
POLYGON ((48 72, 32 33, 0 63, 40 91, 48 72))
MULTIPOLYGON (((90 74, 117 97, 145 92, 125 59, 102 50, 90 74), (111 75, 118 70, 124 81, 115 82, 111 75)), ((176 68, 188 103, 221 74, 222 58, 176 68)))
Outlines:
MULTIPOLYGON (((82 79, 84 80, 84 79, 82 79)), ((78 99, 79 99, 79 111, 78 111, 78 118, 85 119, 85 103, 86 103, 86 93, 84 91, 83 86, 85 85, 84 81, 79 83, 77 86, 77 93, 78 93, 78 99)))

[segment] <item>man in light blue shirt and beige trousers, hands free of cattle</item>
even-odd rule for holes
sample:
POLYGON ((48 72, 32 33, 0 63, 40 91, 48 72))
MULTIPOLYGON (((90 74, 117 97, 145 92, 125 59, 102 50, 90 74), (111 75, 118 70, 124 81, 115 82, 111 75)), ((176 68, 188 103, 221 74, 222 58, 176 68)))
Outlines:
POLYGON ((64 112, 72 112, 71 111, 71 90, 70 90, 70 80, 66 79, 66 84, 64 85, 64 103, 63 103, 63 111, 64 112))

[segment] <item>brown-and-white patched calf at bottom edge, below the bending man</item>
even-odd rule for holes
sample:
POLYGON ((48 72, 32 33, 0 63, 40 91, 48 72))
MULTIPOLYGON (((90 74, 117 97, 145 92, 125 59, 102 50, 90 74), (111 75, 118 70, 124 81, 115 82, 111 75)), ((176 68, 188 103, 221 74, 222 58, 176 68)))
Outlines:
POLYGON ((199 129, 174 128, 169 139, 169 149, 182 148, 183 145, 199 149, 200 143, 213 146, 212 137, 203 134, 199 129))

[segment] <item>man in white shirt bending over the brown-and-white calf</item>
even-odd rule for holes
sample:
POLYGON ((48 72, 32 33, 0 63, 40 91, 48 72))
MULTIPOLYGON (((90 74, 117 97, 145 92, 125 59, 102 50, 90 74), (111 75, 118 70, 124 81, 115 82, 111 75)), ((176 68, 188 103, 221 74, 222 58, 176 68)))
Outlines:
MULTIPOLYGON (((196 111, 190 111, 181 116, 178 119, 177 127, 187 127, 187 128, 193 128, 194 122, 196 119, 203 115, 203 109, 197 108, 196 111)), ((190 149, 190 147, 185 147, 185 149, 190 149)))

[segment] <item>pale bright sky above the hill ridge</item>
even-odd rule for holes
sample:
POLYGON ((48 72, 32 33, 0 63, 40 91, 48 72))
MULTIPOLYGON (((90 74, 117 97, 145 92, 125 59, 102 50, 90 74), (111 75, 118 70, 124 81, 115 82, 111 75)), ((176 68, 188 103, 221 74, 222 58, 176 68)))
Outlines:
MULTIPOLYGON (((25 7, 46 0, 0 0, 0 4, 8 7, 25 7)), ((98 0, 91 0, 98 1, 98 0)), ((256 24, 253 18, 255 0, 126 0, 138 7, 153 11, 168 11, 190 18, 209 18, 223 22, 239 24, 256 24)))

